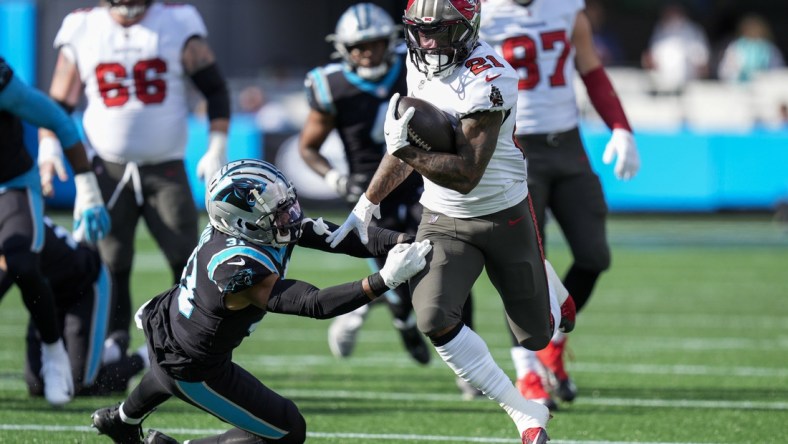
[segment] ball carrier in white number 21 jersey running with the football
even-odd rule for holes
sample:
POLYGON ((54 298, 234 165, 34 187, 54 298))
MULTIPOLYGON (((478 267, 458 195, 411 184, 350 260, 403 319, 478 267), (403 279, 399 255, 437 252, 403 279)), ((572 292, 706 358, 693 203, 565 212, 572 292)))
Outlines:
POLYGON ((544 348, 560 317, 551 313, 523 152, 513 139, 517 72, 478 39, 480 15, 475 0, 409 0, 403 16, 408 94, 457 118, 455 152, 411 146, 413 111, 395 118, 395 94, 384 124, 387 154, 327 240, 336 245, 354 230, 364 240, 380 202, 418 171, 424 211, 416 236, 433 244, 427 267, 410 280, 419 330, 457 376, 503 407, 524 444, 543 444, 549 410, 523 398, 484 340, 461 321, 465 298, 485 268, 524 347, 544 348))

